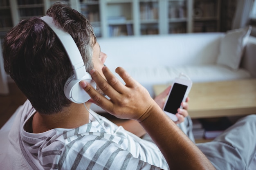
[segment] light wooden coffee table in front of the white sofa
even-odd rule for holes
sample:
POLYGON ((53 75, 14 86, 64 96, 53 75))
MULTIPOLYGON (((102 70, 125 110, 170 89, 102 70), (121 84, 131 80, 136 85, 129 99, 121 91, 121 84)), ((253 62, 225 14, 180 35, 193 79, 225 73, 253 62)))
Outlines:
MULTIPOLYGON (((166 87, 153 86, 156 95, 166 87)), ((255 114, 256 79, 193 83, 189 98, 191 118, 255 114)))

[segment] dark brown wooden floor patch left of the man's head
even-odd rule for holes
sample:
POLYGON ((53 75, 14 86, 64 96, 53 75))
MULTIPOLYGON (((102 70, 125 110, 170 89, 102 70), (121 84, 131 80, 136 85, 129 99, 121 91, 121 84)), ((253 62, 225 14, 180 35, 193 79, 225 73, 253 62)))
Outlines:
POLYGON ((26 99, 15 83, 9 83, 9 95, 0 95, 0 128, 26 99))

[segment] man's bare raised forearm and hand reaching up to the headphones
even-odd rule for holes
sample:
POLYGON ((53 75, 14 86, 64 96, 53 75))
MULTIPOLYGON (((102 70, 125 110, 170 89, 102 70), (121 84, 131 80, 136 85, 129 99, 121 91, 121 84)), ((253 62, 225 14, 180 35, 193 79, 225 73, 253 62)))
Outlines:
POLYGON ((110 99, 99 94, 87 82, 80 82, 95 104, 116 117, 137 120, 155 141, 171 169, 215 169, 207 157, 162 111, 148 91, 123 68, 117 68, 116 72, 124 79, 125 85, 108 68, 103 67, 102 71, 106 80, 95 70, 91 71, 91 75, 110 99))

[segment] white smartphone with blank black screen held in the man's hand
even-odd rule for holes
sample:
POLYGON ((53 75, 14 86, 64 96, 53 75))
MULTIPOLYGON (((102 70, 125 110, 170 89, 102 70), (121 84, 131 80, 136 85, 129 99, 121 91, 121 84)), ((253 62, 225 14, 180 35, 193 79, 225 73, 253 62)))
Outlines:
POLYGON ((181 103, 186 101, 191 86, 192 82, 189 79, 176 78, 174 80, 163 108, 166 115, 173 121, 178 120, 175 114, 178 108, 182 108, 181 103))

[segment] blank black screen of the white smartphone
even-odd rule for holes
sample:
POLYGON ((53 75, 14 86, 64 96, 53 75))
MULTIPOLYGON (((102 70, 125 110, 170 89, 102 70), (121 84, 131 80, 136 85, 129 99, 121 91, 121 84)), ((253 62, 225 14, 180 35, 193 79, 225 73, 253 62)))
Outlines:
POLYGON ((188 86, 184 84, 174 83, 164 107, 164 111, 176 114, 177 109, 180 108, 180 104, 184 98, 187 88, 188 86))

